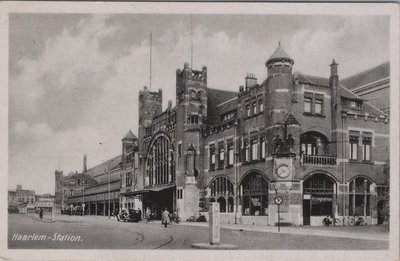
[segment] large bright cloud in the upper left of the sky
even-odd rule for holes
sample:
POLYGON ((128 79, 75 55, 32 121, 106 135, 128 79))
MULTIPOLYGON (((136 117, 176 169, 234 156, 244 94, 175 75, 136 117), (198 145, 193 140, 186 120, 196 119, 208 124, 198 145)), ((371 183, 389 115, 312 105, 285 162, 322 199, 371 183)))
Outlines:
POLYGON ((12 116, 46 121, 54 129, 82 124, 85 107, 101 96, 102 83, 113 73, 115 57, 100 51, 102 39, 117 31, 106 20, 82 19, 47 39, 38 59, 18 62, 21 73, 10 81, 12 116))

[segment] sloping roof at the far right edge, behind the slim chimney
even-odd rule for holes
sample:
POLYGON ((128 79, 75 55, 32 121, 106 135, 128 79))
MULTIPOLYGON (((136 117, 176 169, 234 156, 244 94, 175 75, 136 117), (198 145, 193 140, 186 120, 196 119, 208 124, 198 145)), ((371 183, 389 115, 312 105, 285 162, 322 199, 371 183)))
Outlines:
POLYGON ((390 77, 390 63, 385 62, 340 81, 343 86, 354 89, 390 77))

